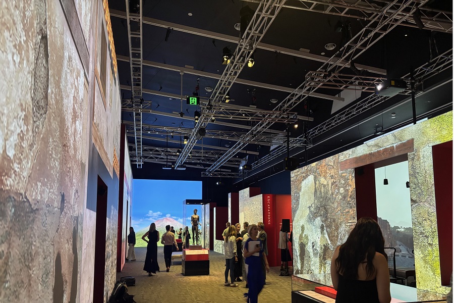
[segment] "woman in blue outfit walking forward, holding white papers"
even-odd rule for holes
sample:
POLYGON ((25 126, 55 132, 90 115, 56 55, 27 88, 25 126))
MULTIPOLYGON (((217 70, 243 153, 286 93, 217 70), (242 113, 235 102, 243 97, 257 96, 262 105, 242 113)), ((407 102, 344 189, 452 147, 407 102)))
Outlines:
POLYGON ((249 292, 245 293, 245 297, 248 303, 257 303, 258 295, 262 291, 263 285, 265 285, 265 275, 262 271, 263 263, 265 263, 266 271, 269 272, 268 260, 266 255, 263 254, 263 243, 257 238, 258 227, 255 224, 249 225, 248 228, 249 238, 246 240, 244 245, 243 255, 245 263, 249 265, 248 269, 248 286, 249 292), (249 249, 249 242, 256 241, 255 247, 249 249), (254 254, 257 254, 258 256, 254 254))

